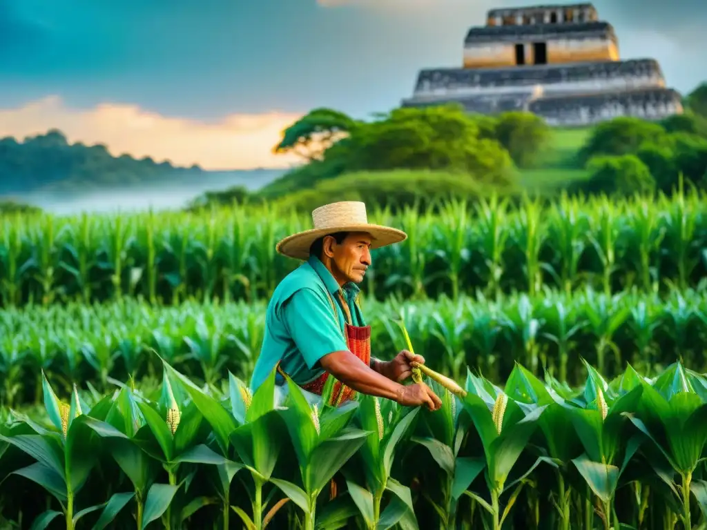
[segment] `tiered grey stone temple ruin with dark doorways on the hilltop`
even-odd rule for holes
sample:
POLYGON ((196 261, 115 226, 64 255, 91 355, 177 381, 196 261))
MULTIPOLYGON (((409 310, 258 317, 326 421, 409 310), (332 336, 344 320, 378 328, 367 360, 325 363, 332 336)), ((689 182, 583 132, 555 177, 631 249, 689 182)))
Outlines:
POLYGON ((553 126, 682 114, 655 59, 619 59, 592 4, 492 9, 469 30, 462 68, 423 69, 403 107, 457 102, 471 113, 533 112, 553 126))

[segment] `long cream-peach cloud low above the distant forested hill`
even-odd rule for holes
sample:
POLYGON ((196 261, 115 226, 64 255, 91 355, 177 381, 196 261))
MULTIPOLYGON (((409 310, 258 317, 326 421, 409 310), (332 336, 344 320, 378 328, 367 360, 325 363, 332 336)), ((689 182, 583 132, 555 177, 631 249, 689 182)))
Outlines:
POLYGON ((136 105, 104 103, 74 109, 49 96, 14 109, 0 108, 0 137, 44 134, 59 129, 71 142, 103 143, 112 155, 150 156, 175 165, 204 169, 288 167, 295 155, 274 155, 281 131, 301 114, 228 114, 218 122, 202 122, 148 112, 136 105))

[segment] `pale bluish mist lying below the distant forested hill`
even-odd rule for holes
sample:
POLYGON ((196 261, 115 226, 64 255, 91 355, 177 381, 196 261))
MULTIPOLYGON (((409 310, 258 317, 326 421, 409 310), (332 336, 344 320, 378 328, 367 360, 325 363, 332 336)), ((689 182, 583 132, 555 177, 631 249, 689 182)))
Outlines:
POLYGON ((39 206, 59 216, 78 213, 115 213, 141 211, 168 211, 184 208, 204 192, 216 192, 234 186, 243 186, 251 192, 262 188, 283 175, 285 170, 252 170, 208 172, 185 182, 180 177, 174 184, 155 184, 145 187, 125 187, 90 191, 85 194, 59 194, 47 191, 13 194, 12 199, 39 206))

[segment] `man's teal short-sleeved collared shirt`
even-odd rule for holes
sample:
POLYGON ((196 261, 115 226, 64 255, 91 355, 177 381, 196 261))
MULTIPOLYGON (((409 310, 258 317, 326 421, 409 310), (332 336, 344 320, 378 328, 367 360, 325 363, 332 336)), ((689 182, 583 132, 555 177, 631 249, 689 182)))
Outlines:
MULTIPOLYGON (((298 384, 320 377, 325 370, 319 361, 328 353, 348 350, 344 338, 344 311, 337 296, 339 283, 317 257, 310 257, 289 273, 275 289, 267 307, 265 334, 250 381, 253 391, 280 363, 298 384), (334 315, 331 295, 337 314, 334 315)), ((351 324, 366 326, 355 302, 358 285, 346 283, 344 298, 351 312, 351 324)), ((282 382, 279 374, 277 382, 282 382)))

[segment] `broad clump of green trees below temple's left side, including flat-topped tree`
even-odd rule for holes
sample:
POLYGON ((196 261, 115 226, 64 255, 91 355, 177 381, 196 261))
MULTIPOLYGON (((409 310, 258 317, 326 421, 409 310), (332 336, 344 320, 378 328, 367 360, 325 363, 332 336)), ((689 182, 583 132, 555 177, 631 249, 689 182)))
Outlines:
POLYGON ((303 154, 308 164, 257 196, 272 199, 351 172, 401 169, 453 172, 462 186, 465 180, 508 186, 514 165, 533 165, 549 138, 549 126, 523 112, 472 116, 459 105, 440 105, 395 109, 363 122, 315 109, 286 129, 275 148, 303 154))

